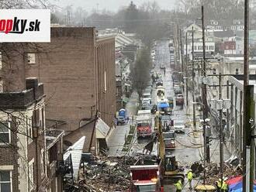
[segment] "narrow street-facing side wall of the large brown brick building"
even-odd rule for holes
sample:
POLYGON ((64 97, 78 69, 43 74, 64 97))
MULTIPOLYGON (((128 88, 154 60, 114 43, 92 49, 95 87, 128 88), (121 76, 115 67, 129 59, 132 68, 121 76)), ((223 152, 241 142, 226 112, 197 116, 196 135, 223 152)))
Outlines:
POLYGON ((98 39, 95 54, 98 65, 97 91, 99 102, 97 105, 100 117, 111 127, 116 113, 115 39, 98 39), (106 78, 104 77, 105 73, 106 78))

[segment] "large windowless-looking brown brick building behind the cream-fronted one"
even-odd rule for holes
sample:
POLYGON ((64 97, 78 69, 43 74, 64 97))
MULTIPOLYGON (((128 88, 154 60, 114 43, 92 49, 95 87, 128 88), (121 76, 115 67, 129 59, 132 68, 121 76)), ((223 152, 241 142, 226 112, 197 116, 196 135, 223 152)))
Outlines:
POLYGON ((58 129, 71 143, 85 135, 85 151, 95 135, 95 111, 113 126, 115 39, 98 38, 94 27, 51 28, 50 43, 3 43, 1 75, 4 91, 21 91, 26 77, 38 77, 47 95, 49 126, 64 122, 58 129))

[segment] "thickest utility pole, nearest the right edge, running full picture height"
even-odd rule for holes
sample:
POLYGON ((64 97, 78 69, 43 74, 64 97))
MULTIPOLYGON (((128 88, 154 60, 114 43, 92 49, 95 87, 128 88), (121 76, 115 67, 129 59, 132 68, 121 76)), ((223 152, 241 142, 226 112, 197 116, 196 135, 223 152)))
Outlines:
MULTIPOLYGON (((254 153, 252 152, 251 146, 251 118, 254 119, 254 110, 250 106, 251 94, 253 94, 253 86, 249 86, 249 0, 244 0, 244 122, 243 122, 243 191, 253 191, 253 174, 254 170, 254 153), (252 167, 250 166, 252 165, 252 167)), ((253 146, 254 148, 254 146, 253 146)))

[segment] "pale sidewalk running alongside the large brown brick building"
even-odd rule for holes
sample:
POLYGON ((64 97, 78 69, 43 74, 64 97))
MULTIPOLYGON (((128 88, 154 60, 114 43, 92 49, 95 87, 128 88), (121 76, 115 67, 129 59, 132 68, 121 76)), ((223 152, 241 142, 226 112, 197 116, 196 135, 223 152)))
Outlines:
POLYGON ((137 91, 133 91, 130 95, 130 100, 126 104, 126 110, 128 112, 128 116, 130 117, 129 122, 126 125, 118 125, 116 129, 112 131, 112 135, 109 137, 109 156, 122 156, 123 144, 125 142, 125 136, 128 134, 130 130, 130 125, 132 122, 132 116, 137 113, 137 104, 139 100, 139 95, 137 91))

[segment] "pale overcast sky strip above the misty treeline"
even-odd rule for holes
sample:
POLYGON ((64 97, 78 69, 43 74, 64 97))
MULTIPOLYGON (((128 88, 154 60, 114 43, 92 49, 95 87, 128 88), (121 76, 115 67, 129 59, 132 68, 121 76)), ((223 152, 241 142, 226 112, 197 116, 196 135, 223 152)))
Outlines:
MULTIPOLYGON (((107 9, 112 12, 116 12, 120 7, 130 4, 130 0, 50 0, 54 5, 58 5, 64 8, 67 5, 73 5, 73 8, 81 6, 88 12, 92 9, 107 9)), ((143 2, 148 0, 133 0, 135 5, 141 5, 143 2)), ((152 2, 152 1, 151 1, 152 2)), ((174 9, 176 0, 156 0, 161 9, 174 9)))

